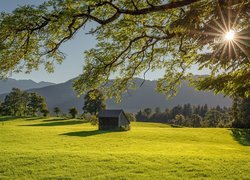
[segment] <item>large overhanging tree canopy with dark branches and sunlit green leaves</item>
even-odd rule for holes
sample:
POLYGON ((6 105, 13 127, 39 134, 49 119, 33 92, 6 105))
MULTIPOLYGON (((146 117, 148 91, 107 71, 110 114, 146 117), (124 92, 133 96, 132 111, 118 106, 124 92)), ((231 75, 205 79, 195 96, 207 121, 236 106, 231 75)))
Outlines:
POLYGON ((0 76, 31 72, 40 64, 52 72, 53 62, 64 59, 61 45, 94 21, 97 26, 90 34, 97 45, 85 52, 83 74, 74 83, 79 94, 100 88, 108 97, 120 97, 134 87, 133 77, 164 69, 157 90, 172 95, 196 64, 211 71, 193 80, 198 89, 249 97, 249 4, 49 0, 38 7, 19 7, 0 15, 0 76), (233 41, 225 40, 225 31, 235 34, 233 41), (117 78, 109 84, 112 74, 117 78))

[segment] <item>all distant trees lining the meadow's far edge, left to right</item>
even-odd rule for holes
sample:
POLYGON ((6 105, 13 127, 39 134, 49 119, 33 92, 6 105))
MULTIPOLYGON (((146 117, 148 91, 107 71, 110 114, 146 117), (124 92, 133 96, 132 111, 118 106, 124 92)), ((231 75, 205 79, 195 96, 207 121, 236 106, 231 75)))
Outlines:
MULTIPOLYGON (((105 98, 98 90, 89 91, 84 98, 83 115, 80 117, 90 119, 91 123, 97 123, 97 114, 106 109, 105 98)), ((13 88, 0 102, 0 115, 10 116, 43 116, 49 115, 45 99, 37 93, 28 93, 13 88)), ((56 116, 61 116, 59 107, 54 108, 56 116)), ((69 109, 72 118, 76 118, 78 111, 75 107, 69 109)), ((171 123, 178 126, 189 127, 238 127, 250 128, 250 98, 235 98, 233 106, 208 107, 208 105, 195 106, 184 104, 174 106, 172 109, 161 111, 159 107, 152 110, 145 108, 134 116, 126 113, 131 121, 171 123)), ((67 116, 64 114, 64 116, 67 116)))

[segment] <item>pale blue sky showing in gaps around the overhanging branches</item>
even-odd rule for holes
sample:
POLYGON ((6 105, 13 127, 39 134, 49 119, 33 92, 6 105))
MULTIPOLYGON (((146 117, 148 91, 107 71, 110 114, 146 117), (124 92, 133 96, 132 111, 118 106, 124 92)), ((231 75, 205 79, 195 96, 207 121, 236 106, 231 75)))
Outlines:
MULTIPOLYGON (((32 4, 39 5, 43 0, 0 0, 0 11, 11 12, 18 6, 32 4)), ((87 35, 86 30, 81 30, 71 41, 66 42, 61 47, 61 51, 66 54, 66 58, 61 65, 55 65, 55 72, 47 73, 42 68, 39 71, 34 71, 31 74, 13 74, 14 79, 32 79, 36 82, 49 81, 54 83, 65 82, 71 78, 81 74, 84 65, 83 52, 95 46, 94 37, 87 35)), ((192 69, 194 74, 207 74, 207 71, 197 71, 192 69)), ((163 75, 163 71, 149 72, 146 79, 155 80, 163 75)))

